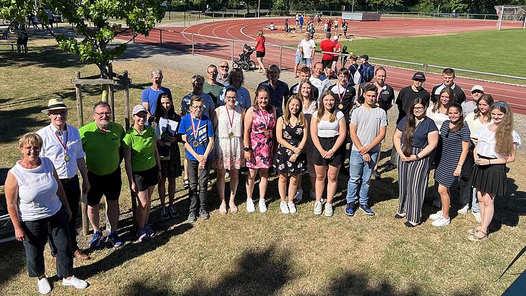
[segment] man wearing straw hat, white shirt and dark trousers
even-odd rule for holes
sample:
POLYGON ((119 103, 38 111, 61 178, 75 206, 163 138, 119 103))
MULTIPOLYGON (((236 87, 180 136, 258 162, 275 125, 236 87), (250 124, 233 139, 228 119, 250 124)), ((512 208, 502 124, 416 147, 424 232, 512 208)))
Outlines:
MULTIPOLYGON (((79 130, 66 124, 68 108, 63 99, 50 99, 47 103, 47 109, 42 110, 42 113, 47 114, 51 123, 36 132, 42 137, 40 156, 47 157, 53 162, 58 178, 64 187, 72 213, 71 220, 68 221, 68 227, 73 255, 79 260, 88 260, 88 256, 83 254, 77 245, 77 214, 80 201, 77 171, 80 171, 82 175, 82 191, 87 193, 90 190, 79 130)), ((55 255, 57 250, 53 247, 53 244, 50 244, 50 246, 53 266, 56 266, 55 255)))

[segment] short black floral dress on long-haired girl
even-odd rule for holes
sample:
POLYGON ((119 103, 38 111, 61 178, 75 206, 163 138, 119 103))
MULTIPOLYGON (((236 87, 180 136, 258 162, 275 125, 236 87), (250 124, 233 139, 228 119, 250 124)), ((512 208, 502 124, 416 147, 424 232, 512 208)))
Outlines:
MULTIPOLYGON (((303 139, 303 127, 299 125, 290 126, 283 124, 283 139, 292 146, 298 147, 303 139)), ((300 153, 295 162, 290 162, 289 158, 294 151, 279 144, 274 158, 274 171, 277 173, 288 173, 297 175, 307 172, 307 156, 304 152, 300 153)))

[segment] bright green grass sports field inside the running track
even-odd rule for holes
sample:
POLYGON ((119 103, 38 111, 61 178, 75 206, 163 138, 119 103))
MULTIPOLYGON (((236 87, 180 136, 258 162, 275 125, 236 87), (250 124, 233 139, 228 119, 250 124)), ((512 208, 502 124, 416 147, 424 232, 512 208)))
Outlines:
MULTIPOLYGON (((355 32, 355 34, 360 35, 360 32, 355 32)), ((353 41, 342 39, 340 41, 342 45, 347 45, 349 52, 358 55, 367 54, 371 57, 389 60, 451 66, 453 69, 526 77, 526 68, 518 66, 521 61, 526 60, 526 51, 524 50, 526 47, 526 30, 523 29, 353 41)), ((371 59, 371 62, 421 70, 421 67, 409 64, 395 64, 374 59, 371 59)), ((442 69, 429 68, 429 71, 442 73, 442 69)), ((475 77, 471 73, 462 73, 461 71, 458 71, 458 75, 475 77)), ((519 79, 482 75, 476 77, 526 84, 526 80, 519 79)))

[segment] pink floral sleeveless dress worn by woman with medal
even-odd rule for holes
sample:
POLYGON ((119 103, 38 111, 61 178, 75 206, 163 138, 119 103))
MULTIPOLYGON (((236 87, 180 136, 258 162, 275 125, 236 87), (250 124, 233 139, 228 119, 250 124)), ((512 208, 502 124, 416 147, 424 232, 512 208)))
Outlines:
POLYGON ((248 168, 268 169, 271 167, 274 153, 272 129, 275 125, 274 108, 270 112, 253 108, 252 126, 250 129, 252 158, 247 162, 248 168))

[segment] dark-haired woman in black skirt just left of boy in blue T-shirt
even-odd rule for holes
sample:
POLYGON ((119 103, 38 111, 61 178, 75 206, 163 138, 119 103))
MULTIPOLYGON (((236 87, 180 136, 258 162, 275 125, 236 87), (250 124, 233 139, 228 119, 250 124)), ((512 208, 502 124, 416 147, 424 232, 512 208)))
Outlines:
MULTIPOLYGON (((172 121, 181 122, 181 116, 175 113, 173 108, 172 96, 168 93, 162 93, 157 99, 157 107, 155 108, 155 114, 150 117, 149 123, 151 126, 157 129, 160 119, 169 119, 172 121)), ((166 127, 159 127, 162 132, 166 127)), ((177 132, 177 130, 173 131, 177 132)), ((177 133, 168 136, 165 134, 165 138, 157 140, 157 147, 161 156, 161 178, 157 189, 159 190, 159 199, 161 201, 161 219, 167 220, 169 217, 178 218, 179 213, 173 206, 173 199, 175 197, 175 182, 177 177, 181 175, 181 153, 179 152, 179 144, 181 142, 181 136, 177 133), (169 143, 169 145, 168 145, 169 143), (166 207, 166 179, 168 179, 168 207, 166 207)))

